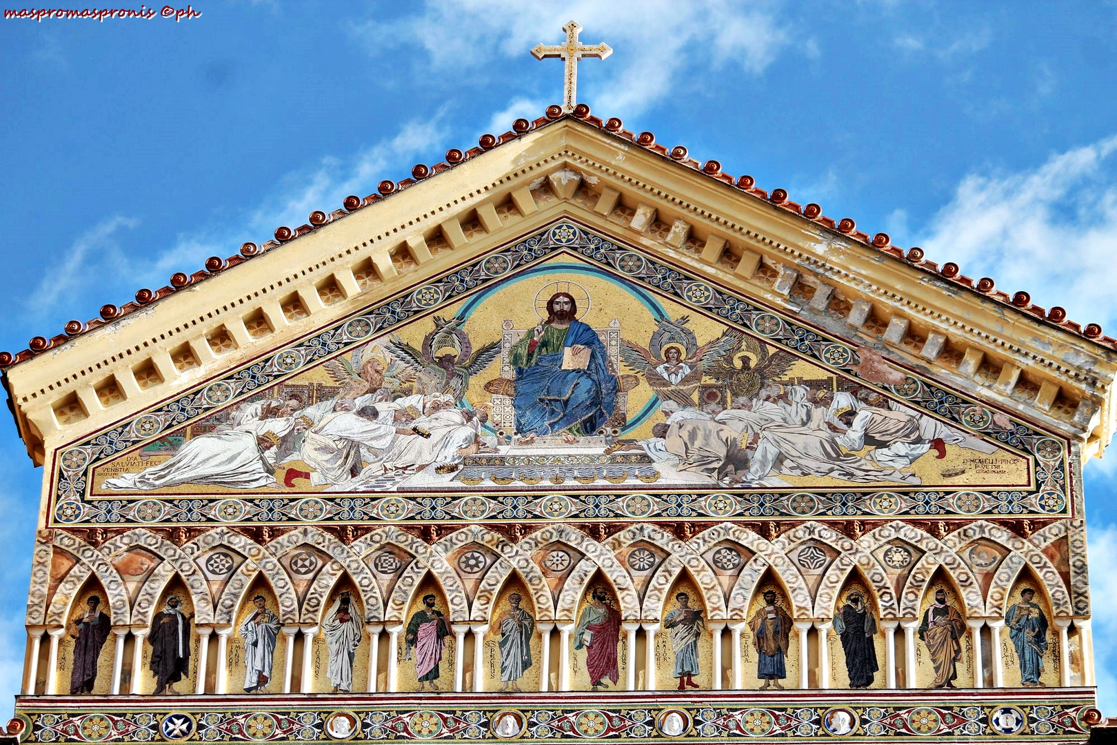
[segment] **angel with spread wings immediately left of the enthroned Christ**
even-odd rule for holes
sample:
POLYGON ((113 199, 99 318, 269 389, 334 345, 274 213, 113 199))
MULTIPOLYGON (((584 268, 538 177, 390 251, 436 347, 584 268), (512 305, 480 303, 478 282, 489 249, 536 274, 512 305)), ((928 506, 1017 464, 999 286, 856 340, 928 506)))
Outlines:
POLYGON ((465 318, 449 321, 433 317, 435 329, 423 336, 422 350, 392 334, 388 348, 427 381, 428 389, 450 393, 460 400, 469 388, 469 379, 481 372, 500 354, 500 341, 474 350, 469 335, 462 331, 465 318))

